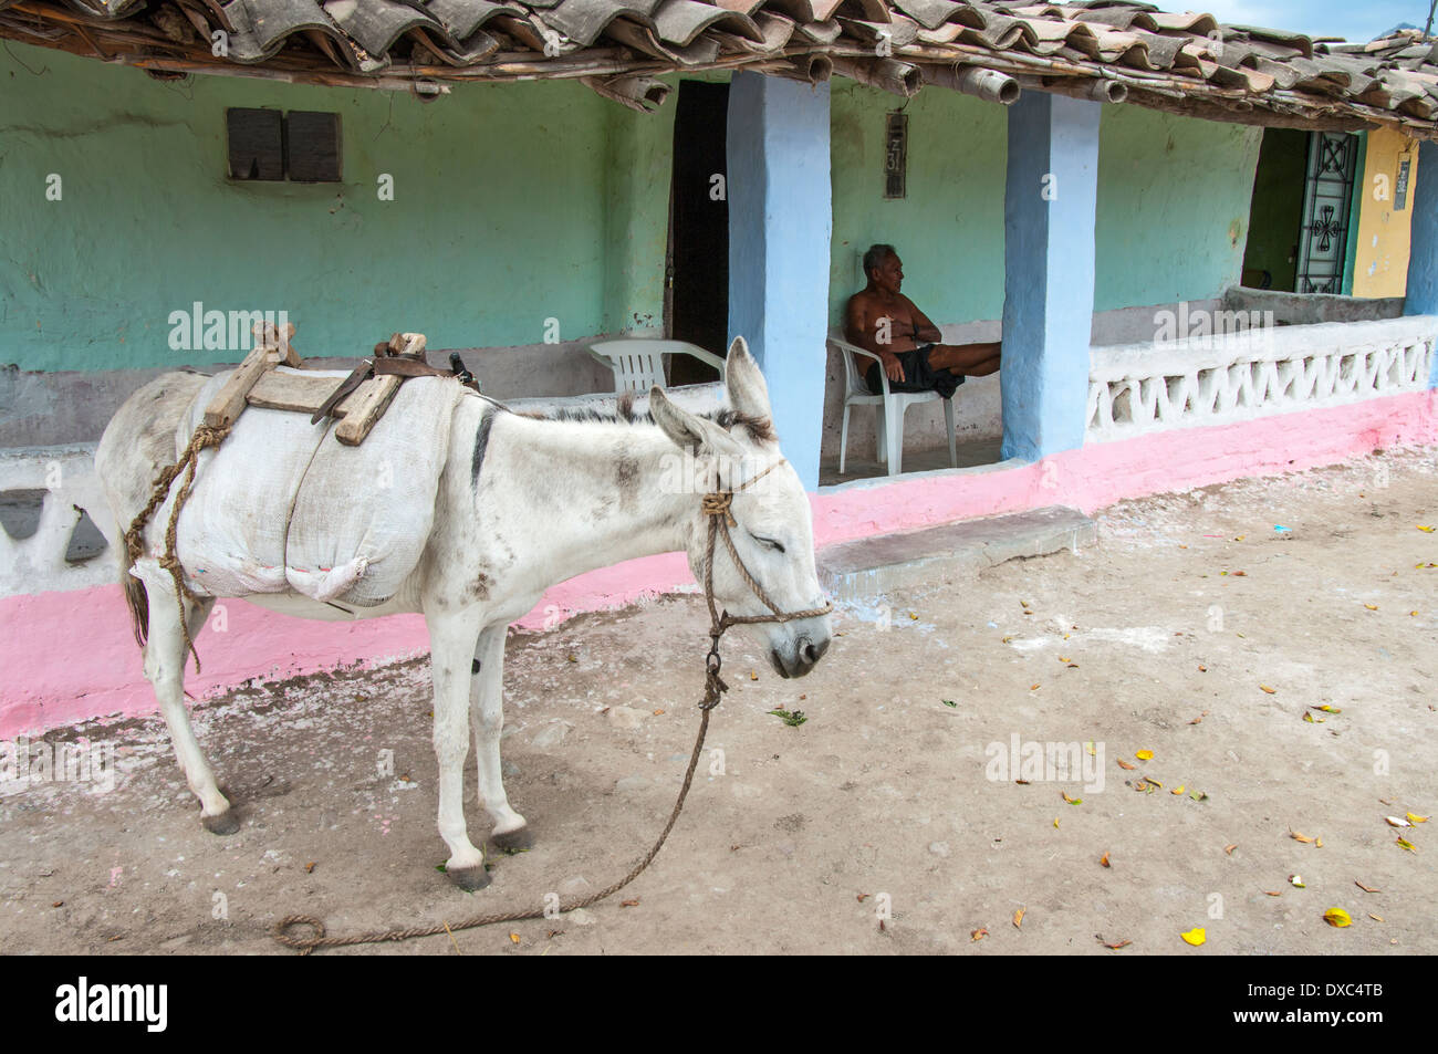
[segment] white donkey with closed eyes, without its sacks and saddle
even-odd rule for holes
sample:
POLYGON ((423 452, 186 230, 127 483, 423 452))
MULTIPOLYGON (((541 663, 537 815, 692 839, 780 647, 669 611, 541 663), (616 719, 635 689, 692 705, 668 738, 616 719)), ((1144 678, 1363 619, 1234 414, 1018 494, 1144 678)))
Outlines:
MULTIPOLYGON (((160 470, 175 460, 177 429, 204 381, 197 374, 165 374, 137 391, 105 429, 95 463, 121 532, 145 506, 160 470)), ((446 871, 462 889, 489 884, 483 853, 470 841, 464 821, 469 730, 495 846, 531 844, 525 818, 510 808, 500 778, 505 636, 508 624, 528 613, 548 587, 676 549, 687 552, 690 569, 703 581, 707 526, 700 502, 722 475, 726 489, 735 490, 733 544, 754 579, 781 611, 823 607, 808 499, 779 453, 768 388, 742 338, 729 348, 726 388, 729 405, 703 416, 676 405, 657 387, 649 414, 640 417, 620 407, 614 417, 582 413, 541 420, 466 395, 452 418, 433 528, 414 571, 391 600, 341 614, 298 592, 244 597, 265 608, 322 620, 424 614, 434 679, 439 830, 450 851, 446 871), (676 464, 683 469, 676 472, 676 464), (733 472, 736 464, 742 467, 733 472), (766 472, 756 480, 762 486, 742 487, 761 472, 766 472)), ((178 436, 180 449, 187 439, 178 436)), ((354 500, 383 498, 361 490, 354 500)), ((147 526, 147 551, 161 544, 164 526, 154 521, 147 526)), ((124 567, 122 544, 119 551, 124 567)), ((168 574, 147 572, 144 564, 154 561, 139 561, 134 574, 125 568, 122 575, 144 644, 145 676, 170 725, 180 768, 200 798, 204 827, 232 834, 239 821, 216 787, 186 710, 187 653, 174 585, 168 574)), ((186 571, 188 577, 193 568, 186 571)), ((725 546, 715 554, 713 594, 732 614, 768 614, 725 546)), ((213 602, 186 598, 191 634, 204 625, 213 602)), ((825 617, 749 628, 785 677, 808 673, 830 643, 825 617)))

